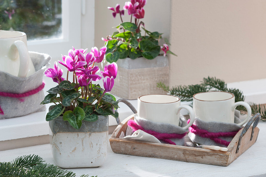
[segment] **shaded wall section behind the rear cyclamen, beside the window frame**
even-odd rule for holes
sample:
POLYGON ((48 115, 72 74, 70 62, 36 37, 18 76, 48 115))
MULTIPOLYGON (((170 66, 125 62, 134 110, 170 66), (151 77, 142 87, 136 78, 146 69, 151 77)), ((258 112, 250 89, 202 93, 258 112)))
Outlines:
MULTIPOLYGON (((112 11, 107 7, 115 7, 117 3, 120 4, 120 10, 126 1, 130 0, 95 0, 95 46, 102 47, 104 41, 102 37, 113 34, 116 29, 112 28, 121 23, 120 17, 114 19, 112 11)), ((142 21, 149 31, 158 31, 163 34, 164 38, 169 39, 170 32, 170 0, 148 0, 144 6, 145 15, 142 21)), ((122 17, 123 21, 130 21, 130 15, 125 11, 122 17)))

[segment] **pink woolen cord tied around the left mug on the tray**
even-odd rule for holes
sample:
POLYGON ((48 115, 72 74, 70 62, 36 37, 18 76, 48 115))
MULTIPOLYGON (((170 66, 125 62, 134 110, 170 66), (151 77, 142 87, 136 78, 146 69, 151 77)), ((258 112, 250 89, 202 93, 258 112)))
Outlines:
POLYGON ((169 138, 183 138, 186 133, 183 134, 176 134, 176 133, 159 133, 156 131, 152 131, 152 130, 145 130, 142 126, 138 125, 134 120, 130 119, 127 122, 127 125, 130 126, 134 131, 136 130, 142 130, 148 134, 151 134, 153 136, 155 136, 157 139, 162 140, 166 143, 169 143, 170 145, 176 145, 176 143, 174 143, 173 141, 171 141, 169 138))

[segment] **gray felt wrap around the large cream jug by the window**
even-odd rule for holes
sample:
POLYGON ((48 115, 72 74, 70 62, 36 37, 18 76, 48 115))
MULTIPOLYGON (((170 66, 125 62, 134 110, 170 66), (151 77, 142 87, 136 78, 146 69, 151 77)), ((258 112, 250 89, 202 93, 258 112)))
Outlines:
MULTIPOLYGON (((51 57, 37 52, 29 52, 29 54, 36 72, 29 77, 20 78, 0 71, 0 92, 25 93, 38 88, 43 83, 43 72, 49 66, 51 57)), ((22 99, 0 96, 0 106, 4 113, 0 114, 0 120, 41 112, 46 109, 45 105, 40 105, 44 99, 43 90, 22 97, 22 99)))

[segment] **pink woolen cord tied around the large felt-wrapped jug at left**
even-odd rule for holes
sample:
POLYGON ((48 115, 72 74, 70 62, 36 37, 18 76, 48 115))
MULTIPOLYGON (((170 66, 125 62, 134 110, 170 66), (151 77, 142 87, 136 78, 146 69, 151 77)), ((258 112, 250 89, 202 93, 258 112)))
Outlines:
MULTIPOLYGON (((24 99, 22 99, 22 97, 27 97, 27 96, 31 96, 33 94, 36 94, 38 92, 40 92, 43 88, 44 88, 45 83, 43 82, 39 87, 37 87, 36 89, 30 90, 28 92, 25 93, 8 93, 8 92, 0 92, 0 96, 3 97, 12 97, 12 98, 18 98, 21 102, 24 101, 24 99)), ((0 106, 0 114, 4 114, 1 106, 0 106)))

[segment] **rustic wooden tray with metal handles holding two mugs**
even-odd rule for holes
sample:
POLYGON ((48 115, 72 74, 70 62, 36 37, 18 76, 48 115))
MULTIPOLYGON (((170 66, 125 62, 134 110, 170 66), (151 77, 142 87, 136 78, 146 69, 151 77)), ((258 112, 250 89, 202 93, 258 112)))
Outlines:
MULTIPOLYGON (((133 112, 136 113, 136 110, 134 109, 133 112)), ((126 134, 127 121, 134 119, 134 115, 135 114, 123 120, 114 130, 111 138, 109 139, 114 153, 184 162, 205 163, 219 166, 228 166, 256 142, 259 134, 259 128, 256 126, 261 117, 259 113, 256 113, 250 121, 248 121, 247 125, 232 139, 231 143, 227 147, 228 151, 224 152, 201 149, 197 147, 151 143, 119 138, 122 131, 126 134), (253 126, 251 126, 252 123, 253 126)))

